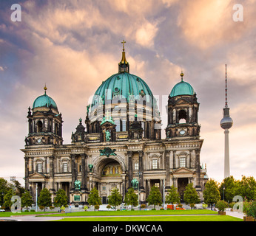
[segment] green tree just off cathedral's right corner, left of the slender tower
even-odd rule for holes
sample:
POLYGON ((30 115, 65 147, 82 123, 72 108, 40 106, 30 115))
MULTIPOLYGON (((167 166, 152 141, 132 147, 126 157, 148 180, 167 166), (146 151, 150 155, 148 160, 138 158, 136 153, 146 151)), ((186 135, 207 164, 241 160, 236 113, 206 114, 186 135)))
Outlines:
POLYGON ((206 182, 205 189, 203 190, 203 201, 206 204, 210 204, 211 209, 212 204, 217 204, 220 201, 220 191, 218 190, 217 182, 212 178, 206 182))

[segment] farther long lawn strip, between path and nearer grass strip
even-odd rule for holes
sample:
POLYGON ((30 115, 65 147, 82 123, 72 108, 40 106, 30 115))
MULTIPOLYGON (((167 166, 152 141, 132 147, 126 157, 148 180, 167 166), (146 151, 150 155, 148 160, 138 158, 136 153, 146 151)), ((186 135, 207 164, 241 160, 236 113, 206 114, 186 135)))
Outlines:
POLYGON ((72 212, 72 213, 59 213, 47 216, 114 216, 114 215, 218 215, 218 212, 209 209, 186 209, 186 210, 165 210, 165 211, 96 211, 96 212, 72 212))

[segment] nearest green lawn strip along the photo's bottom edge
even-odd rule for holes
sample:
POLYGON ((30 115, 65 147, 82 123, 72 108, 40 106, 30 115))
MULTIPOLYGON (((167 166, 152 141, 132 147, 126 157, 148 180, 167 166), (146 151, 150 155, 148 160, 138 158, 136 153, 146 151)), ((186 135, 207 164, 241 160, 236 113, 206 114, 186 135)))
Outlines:
POLYGON ((243 221, 229 215, 173 215, 173 216, 124 216, 124 217, 90 217, 64 218, 59 221, 243 221))

